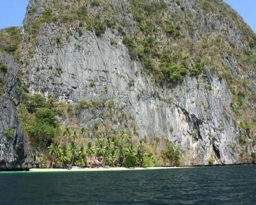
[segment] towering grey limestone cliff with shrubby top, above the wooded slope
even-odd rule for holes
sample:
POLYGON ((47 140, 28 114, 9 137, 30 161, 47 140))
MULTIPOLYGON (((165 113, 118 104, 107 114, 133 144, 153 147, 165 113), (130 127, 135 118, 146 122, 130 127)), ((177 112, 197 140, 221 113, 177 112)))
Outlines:
MULTIPOLYGON (((255 34, 222 1, 138 2, 30 0, 19 46, 29 92, 73 106, 113 101, 134 122, 113 124, 166 135, 185 165, 250 162, 255 34)), ((90 127, 103 113, 76 119, 90 127)))

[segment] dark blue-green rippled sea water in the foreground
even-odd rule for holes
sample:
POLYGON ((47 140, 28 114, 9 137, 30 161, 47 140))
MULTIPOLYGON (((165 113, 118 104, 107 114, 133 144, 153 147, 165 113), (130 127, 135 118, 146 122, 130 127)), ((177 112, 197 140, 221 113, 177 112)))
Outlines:
POLYGON ((256 204, 256 166, 0 173, 1 205, 256 204))

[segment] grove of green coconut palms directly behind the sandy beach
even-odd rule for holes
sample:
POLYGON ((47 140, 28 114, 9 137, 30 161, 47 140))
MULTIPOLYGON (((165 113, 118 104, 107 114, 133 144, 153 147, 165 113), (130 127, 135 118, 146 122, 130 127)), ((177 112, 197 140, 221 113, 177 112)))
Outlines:
MULTIPOLYGON (((64 166, 73 164, 76 166, 88 166, 87 157, 98 157, 105 166, 125 166, 125 167, 149 167, 156 164, 156 153, 152 145, 144 139, 140 139, 138 144, 132 141, 135 136, 132 133, 115 133, 105 136, 105 129, 98 128, 95 139, 88 139, 89 130, 82 128, 79 132, 66 128, 62 133, 62 138, 69 141, 69 144, 62 144, 61 139, 48 146, 48 155, 51 158, 51 166, 64 166), (84 142, 82 142, 84 141, 84 142)), ((168 147, 169 148, 169 147, 168 147)), ((179 164, 179 151, 172 144, 172 151, 166 150, 168 165, 179 164), (175 156, 172 156, 175 155, 175 156)))

